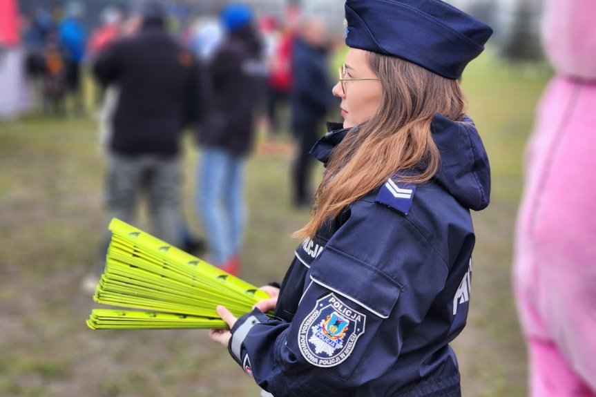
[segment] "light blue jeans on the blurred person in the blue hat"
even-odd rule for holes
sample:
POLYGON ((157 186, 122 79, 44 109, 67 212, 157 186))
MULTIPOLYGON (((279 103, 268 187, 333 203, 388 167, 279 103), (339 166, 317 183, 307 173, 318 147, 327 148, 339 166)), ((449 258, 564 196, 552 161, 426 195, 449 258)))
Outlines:
POLYGON ((197 208, 204 224, 211 264, 221 266, 242 246, 244 205, 244 157, 220 148, 205 148, 198 161, 197 208))

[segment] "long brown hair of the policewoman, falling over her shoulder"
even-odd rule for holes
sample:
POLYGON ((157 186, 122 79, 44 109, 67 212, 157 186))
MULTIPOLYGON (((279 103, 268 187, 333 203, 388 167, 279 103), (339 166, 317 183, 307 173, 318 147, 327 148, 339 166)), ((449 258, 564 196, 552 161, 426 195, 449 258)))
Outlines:
POLYGON ((430 124, 436 113, 461 119, 465 98, 459 81, 446 79, 397 57, 367 53, 383 90, 376 115, 352 128, 334 148, 316 196, 311 220, 294 237, 313 237, 360 197, 396 171, 412 170, 402 182, 421 184, 440 166, 430 124))

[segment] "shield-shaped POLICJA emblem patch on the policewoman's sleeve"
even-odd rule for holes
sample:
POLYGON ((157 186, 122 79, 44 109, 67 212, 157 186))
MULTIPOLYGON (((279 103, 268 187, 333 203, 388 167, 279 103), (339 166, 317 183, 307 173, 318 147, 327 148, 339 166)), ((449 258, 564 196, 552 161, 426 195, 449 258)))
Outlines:
POLYGON ((316 301, 300 325, 300 352, 317 367, 334 367, 352 354, 356 340, 364 333, 365 322, 363 313, 329 293, 316 301))

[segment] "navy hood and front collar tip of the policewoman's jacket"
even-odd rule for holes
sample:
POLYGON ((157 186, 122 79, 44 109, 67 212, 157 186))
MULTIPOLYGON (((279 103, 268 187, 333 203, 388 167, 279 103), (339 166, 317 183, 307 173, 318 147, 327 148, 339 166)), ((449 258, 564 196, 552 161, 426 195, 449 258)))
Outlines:
MULTIPOLYGON (((480 211, 490 200, 490 165, 480 135, 469 117, 453 122, 435 115, 430 126, 434 142, 441 153, 441 166, 434 182, 445 188, 463 206, 480 211)), ((333 148, 349 128, 327 123, 329 132, 311 149, 311 154, 327 165, 333 148)))

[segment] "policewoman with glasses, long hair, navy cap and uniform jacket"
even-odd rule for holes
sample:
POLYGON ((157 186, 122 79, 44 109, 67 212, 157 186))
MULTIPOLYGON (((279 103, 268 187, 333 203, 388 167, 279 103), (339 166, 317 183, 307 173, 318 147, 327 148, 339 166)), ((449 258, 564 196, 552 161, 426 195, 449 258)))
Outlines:
POLYGON ((488 157, 459 77, 492 30, 436 0, 347 0, 333 88, 343 126, 280 289, 210 336, 282 396, 461 396, 449 343, 468 316, 488 157), (275 309, 275 315, 264 314, 275 309))

